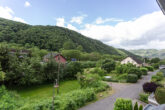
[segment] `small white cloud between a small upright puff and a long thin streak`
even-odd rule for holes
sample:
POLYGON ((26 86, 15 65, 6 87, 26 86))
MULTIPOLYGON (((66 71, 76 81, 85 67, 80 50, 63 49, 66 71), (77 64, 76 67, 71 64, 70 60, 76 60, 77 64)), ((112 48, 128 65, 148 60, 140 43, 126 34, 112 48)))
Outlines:
POLYGON ((74 17, 71 18, 70 22, 71 23, 82 24, 85 17, 87 17, 87 15, 74 16, 74 17))

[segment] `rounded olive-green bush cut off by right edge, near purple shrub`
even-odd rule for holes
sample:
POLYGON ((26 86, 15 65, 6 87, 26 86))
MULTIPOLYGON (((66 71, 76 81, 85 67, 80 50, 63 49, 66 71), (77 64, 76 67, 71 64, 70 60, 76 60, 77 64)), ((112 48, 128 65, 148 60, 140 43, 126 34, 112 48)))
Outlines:
POLYGON ((158 87, 156 89, 155 99, 159 104, 165 104, 165 88, 158 87))

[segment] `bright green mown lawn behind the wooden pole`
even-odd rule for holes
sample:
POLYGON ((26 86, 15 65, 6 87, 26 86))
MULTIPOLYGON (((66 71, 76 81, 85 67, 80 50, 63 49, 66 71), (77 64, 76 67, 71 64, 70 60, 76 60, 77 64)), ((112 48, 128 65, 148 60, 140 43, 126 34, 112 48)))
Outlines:
MULTIPOLYGON (((79 89, 80 85, 77 80, 63 81, 60 83, 60 94, 79 89)), ((26 88, 16 88, 17 93, 25 99, 51 98, 53 96, 53 84, 43 84, 26 88)), ((56 95, 56 94, 55 94, 56 95)))

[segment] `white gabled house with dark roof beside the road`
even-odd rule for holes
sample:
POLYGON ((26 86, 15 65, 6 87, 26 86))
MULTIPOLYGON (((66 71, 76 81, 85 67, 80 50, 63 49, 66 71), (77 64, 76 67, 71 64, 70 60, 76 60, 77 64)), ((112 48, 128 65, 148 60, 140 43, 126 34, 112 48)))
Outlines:
POLYGON ((128 63, 132 63, 133 65, 136 65, 137 67, 139 67, 139 66, 142 66, 143 61, 134 57, 127 57, 121 61, 121 64, 128 64, 128 63))

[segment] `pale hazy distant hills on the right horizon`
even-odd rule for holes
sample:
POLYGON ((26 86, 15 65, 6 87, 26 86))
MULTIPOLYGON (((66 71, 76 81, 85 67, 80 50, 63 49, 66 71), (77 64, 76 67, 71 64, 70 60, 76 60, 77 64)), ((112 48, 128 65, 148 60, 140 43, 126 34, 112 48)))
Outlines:
POLYGON ((157 50, 157 49, 138 49, 138 50, 129 50, 130 52, 142 56, 142 57, 159 57, 161 59, 165 59, 165 49, 157 50))

